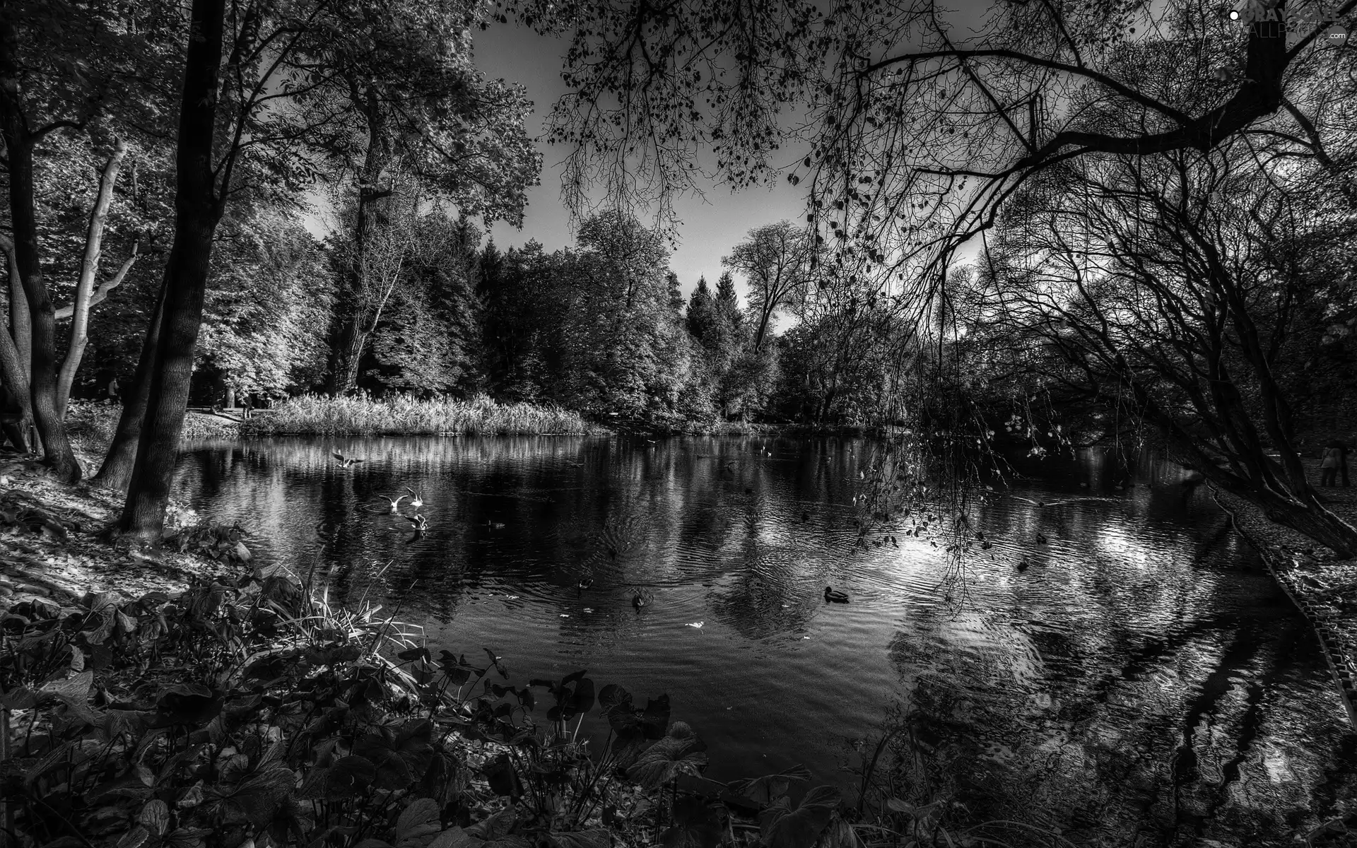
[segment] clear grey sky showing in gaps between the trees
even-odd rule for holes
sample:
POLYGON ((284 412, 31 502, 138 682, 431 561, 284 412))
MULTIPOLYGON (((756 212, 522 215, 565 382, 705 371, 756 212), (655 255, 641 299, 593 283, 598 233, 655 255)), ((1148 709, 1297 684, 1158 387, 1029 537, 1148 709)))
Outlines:
MULTIPOLYGON (((552 103, 566 92, 560 80, 562 54, 566 42, 537 35, 532 30, 510 24, 494 24, 475 34, 476 66, 490 79, 521 83, 533 100, 533 114, 528 118, 528 132, 541 136, 541 123, 552 103)), ((497 223, 490 235, 499 250, 536 239, 550 250, 573 244, 570 214, 560 204, 560 161, 569 152, 559 145, 539 141, 543 155, 541 185, 528 191, 528 210, 522 228, 497 223)), ((704 199, 683 197, 674 204, 681 221, 677 244, 669 267, 678 274, 684 293, 692 292, 697 277, 706 275, 712 286, 721 277, 721 258, 742 242, 750 229, 775 224, 782 218, 798 220, 805 212, 803 190, 776 180, 769 189, 748 189, 731 193, 722 186, 703 189, 704 199)), ((742 281, 737 289, 744 294, 742 281)))

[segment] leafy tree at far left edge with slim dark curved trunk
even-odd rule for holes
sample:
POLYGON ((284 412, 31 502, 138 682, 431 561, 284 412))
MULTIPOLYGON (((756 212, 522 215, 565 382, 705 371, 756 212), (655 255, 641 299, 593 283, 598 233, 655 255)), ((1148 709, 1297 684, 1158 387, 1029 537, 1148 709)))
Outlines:
POLYGON ((37 425, 46 460, 69 482, 83 472, 62 412, 84 353, 88 300, 125 148, 113 145, 88 218, 65 364, 57 358, 56 307, 43 267, 38 166, 45 145, 58 133, 84 130, 113 109, 141 111, 142 117, 153 111, 153 83, 166 66, 152 49, 155 33, 148 27, 133 34, 119 12, 102 5, 11 3, 0 9, 0 138, 14 233, 7 246, 11 335, 0 341, 0 374, 14 393, 28 396, 24 411, 37 425))

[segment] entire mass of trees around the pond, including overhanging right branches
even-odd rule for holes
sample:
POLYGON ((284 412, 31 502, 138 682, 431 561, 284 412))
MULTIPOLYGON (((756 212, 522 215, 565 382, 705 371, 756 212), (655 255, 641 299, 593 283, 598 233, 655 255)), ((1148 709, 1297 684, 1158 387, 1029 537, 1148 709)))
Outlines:
POLYGON ((94 478, 145 539, 190 399, 366 388, 898 421, 944 464, 1004 434, 1151 441, 1357 555, 1305 467, 1352 433, 1346 31, 995 3, 961 43, 889 5, 3 4, 0 423, 75 482, 66 403, 119 376, 94 478), (510 19, 560 38, 569 250, 483 237, 541 170, 528 92, 474 62, 510 19), (681 297, 662 227, 616 212, 662 224, 699 174, 806 183, 803 221, 715 246, 744 303, 681 297))

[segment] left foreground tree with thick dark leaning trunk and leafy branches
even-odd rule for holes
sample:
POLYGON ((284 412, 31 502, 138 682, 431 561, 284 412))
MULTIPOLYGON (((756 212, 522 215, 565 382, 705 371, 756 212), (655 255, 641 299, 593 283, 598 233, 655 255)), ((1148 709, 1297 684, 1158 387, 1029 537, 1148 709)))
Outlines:
MULTIPOLYGON (((383 103, 404 99, 408 114, 429 114, 427 126, 433 128, 441 110, 471 84, 452 71, 470 57, 467 33, 478 8, 452 1, 388 4, 379 15, 365 3, 350 1, 250 1, 228 8, 224 0, 194 0, 183 30, 185 37, 193 37, 186 38, 183 53, 175 240, 159 317, 152 319, 138 361, 137 392, 129 398, 109 457, 125 465, 128 445, 136 436, 136 464, 122 516, 125 531, 148 539, 159 537, 161 531, 212 243, 225 205, 242 191, 285 190, 296 197, 316 174, 313 155, 332 149, 337 133, 346 134, 343 128, 350 126, 372 128, 362 110, 379 94, 383 103), (419 56, 433 57, 434 65, 446 71, 438 77, 444 98, 434 96, 427 77, 387 73, 391 62, 419 56), (223 75, 223 68, 229 73, 223 75), (366 80, 366 99, 318 94, 327 85, 358 80, 366 80), (375 90, 377 81, 384 87, 381 92, 375 90), (141 396, 147 399, 144 415, 137 414, 141 396), (147 426, 141 426, 142 418, 147 426)), ((459 140, 456 133, 463 129, 468 134, 484 129, 483 123, 461 123, 464 117, 449 118, 453 137, 448 141, 459 140)), ((499 137, 509 134, 512 125, 510 118, 499 126, 499 137)), ((419 136, 422 142, 436 137, 442 136, 419 136)), ((452 170, 460 168, 467 183, 475 185, 486 185, 482 176, 502 175, 498 187, 503 191, 486 197, 513 205, 510 187, 532 168, 517 167, 513 156, 475 155, 463 161, 457 159, 461 152, 453 147, 452 170)))

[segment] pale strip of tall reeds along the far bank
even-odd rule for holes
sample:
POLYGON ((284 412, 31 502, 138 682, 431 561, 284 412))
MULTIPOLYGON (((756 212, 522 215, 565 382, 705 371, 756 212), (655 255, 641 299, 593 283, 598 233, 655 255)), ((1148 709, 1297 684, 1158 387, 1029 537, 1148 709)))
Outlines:
POLYGON ((395 395, 324 398, 303 395, 251 415, 244 436, 546 436, 598 430, 577 412, 555 406, 499 403, 484 395, 471 400, 395 395))

